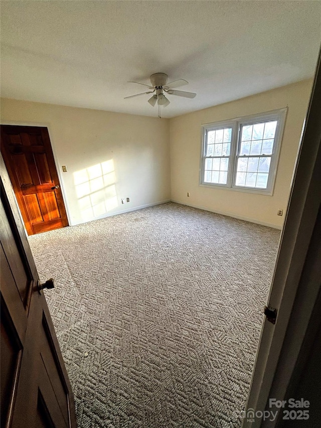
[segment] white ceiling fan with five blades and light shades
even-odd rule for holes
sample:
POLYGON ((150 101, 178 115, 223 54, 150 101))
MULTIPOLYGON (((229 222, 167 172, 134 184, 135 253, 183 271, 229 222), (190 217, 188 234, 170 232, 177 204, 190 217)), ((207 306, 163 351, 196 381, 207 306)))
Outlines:
POLYGON ((154 73, 150 76, 151 85, 146 85, 145 83, 140 83, 140 82, 127 82, 127 83, 138 83, 139 85, 147 86, 148 89, 152 89, 152 90, 147 92, 141 92, 140 94, 136 94, 136 95, 130 95, 129 97, 125 97, 124 99, 137 97, 139 95, 154 93, 149 98, 148 102, 153 107, 157 103, 158 117, 161 118, 161 105, 166 107, 167 105, 170 104, 170 100, 165 96, 164 92, 166 94, 178 95, 186 98, 194 98, 196 96, 196 94, 193 92, 177 91, 176 89, 174 89, 183 85, 187 85, 189 82, 187 82, 186 80, 179 79, 179 80, 174 80, 173 82, 167 83, 167 79, 168 79, 168 75, 165 73, 154 73))

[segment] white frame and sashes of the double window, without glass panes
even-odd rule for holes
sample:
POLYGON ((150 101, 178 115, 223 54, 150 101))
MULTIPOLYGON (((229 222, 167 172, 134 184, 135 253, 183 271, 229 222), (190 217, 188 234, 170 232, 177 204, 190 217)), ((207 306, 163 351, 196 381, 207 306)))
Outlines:
MULTIPOLYGON (((286 112, 287 112, 287 107, 281 108, 279 110, 268 111, 265 113, 258 113, 251 116, 238 117, 231 120, 203 124, 202 125, 202 156, 201 156, 201 166, 200 166, 200 186, 272 196, 273 190, 274 190, 279 154, 281 149, 281 140, 283 136, 286 112), (277 125, 275 129, 272 155, 268 156, 271 158, 271 163, 270 163, 270 170, 269 170, 266 189, 246 187, 246 186, 236 186, 235 185, 236 168, 237 168, 237 160, 239 158, 238 153, 240 150, 240 135, 241 135, 242 126, 248 125, 248 124, 260 123, 260 122, 267 122, 272 120, 277 120, 277 125), (230 149, 230 156, 228 157, 229 167, 228 167, 228 173, 227 173, 227 183, 217 184, 217 183, 205 182, 204 181, 205 160, 209 158, 208 156, 206 156, 207 132, 211 130, 222 129, 227 127, 232 128, 231 149, 230 149)), ((260 155, 255 155, 255 156, 253 155, 253 157, 259 157, 259 156, 260 155)), ((225 157, 227 158, 227 156, 225 157)), ((249 156, 244 156, 244 157, 246 157, 247 159, 249 158, 249 156)), ((224 158, 224 156, 220 158, 224 158)))

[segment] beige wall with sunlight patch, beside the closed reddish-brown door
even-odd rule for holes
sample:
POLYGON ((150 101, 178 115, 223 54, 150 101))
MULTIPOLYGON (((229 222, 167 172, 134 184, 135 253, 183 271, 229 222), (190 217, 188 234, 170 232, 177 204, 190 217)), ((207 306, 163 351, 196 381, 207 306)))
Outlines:
POLYGON ((1 122, 48 126, 71 224, 171 197, 168 119, 2 99, 1 122))

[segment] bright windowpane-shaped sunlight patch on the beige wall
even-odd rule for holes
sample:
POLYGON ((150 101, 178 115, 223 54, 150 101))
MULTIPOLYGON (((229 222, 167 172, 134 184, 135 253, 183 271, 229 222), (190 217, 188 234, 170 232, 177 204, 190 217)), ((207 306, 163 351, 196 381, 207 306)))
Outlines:
POLYGON ((115 182, 112 159, 74 173, 76 195, 83 220, 103 216, 118 206, 115 182))

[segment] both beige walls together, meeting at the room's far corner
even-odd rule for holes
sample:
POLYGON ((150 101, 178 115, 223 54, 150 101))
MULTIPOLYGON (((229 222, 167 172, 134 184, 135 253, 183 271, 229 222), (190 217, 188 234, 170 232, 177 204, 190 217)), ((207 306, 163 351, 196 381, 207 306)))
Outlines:
POLYGON ((311 85, 306 80, 162 120, 3 99, 1 121, 48 126, 71 224, 172 199, 281 228, 285 216, 276 212, 285 214, 311 85), (202 124, 286 106, 272 196, 199 186, 202 124), (126 197, 130 202, 121 204, 126 197))

